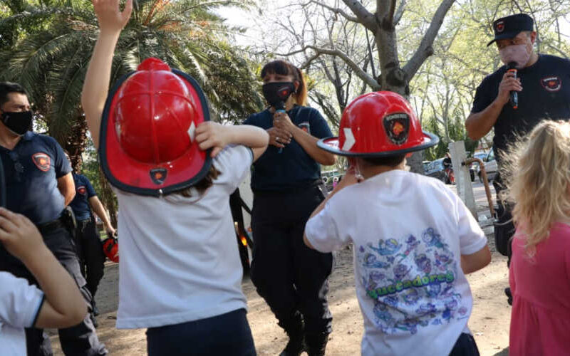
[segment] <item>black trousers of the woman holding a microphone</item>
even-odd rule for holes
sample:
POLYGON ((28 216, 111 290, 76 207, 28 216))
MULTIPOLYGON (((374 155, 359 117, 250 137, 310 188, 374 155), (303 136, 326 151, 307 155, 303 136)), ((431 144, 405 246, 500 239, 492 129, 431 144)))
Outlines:
POLYGON ((333 256, 303 242, 306 221, 323 199, 316 186, 254 193, 252 282, 285 330, 299 312, 306 333, 332 330, 326 293, 333 256))

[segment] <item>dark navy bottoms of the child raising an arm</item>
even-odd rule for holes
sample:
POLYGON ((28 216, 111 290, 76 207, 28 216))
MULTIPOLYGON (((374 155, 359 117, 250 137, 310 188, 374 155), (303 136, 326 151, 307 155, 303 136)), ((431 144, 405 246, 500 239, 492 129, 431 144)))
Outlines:
POLYGON ((245 309, 188 323, 149 328, 149 356, 255 356, 245 309))

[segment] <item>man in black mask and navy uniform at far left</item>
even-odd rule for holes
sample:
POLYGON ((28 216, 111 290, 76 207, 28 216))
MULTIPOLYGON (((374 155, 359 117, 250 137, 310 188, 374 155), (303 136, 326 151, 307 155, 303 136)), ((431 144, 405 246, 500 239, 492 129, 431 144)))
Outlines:
MULTIPOLYGON (((0 158, 6 177, 6 207, 23 214, 38 226, 43 241, 75 278, 83 297, 91 295, 81 276, 72 224, 63 214, 75 195, 71 167, 53 138, 29 131, 32 113, 26 91, 16 83, 0 83, 0 158)), ((0 247, 0 271, 9 271, 37 285, 19 259, 0 247)), ((66 355, 106 355, 105 345, 95 334, 89 315, 73 328, 59 330, 66 355)), ((28 355, 52 355, 43 330, 26 329, 28 355)))

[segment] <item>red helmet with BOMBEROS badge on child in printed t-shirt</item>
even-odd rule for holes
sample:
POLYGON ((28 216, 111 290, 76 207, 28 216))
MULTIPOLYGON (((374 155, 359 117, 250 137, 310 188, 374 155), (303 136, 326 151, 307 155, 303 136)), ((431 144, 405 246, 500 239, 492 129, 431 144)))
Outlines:
POLYGON ((343 112, 338 137, 317 142, 318 147, 348 157, 388 157, 425 150, 439 138, 422 131, 410 104, 389 91, 354 99, 343 112))

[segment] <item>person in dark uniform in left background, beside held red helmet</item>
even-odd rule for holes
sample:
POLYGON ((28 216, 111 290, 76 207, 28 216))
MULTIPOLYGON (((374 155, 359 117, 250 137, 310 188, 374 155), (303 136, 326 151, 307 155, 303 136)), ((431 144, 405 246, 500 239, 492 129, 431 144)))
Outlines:
MULTIPOLYGON (((66 157, 69 160, 69 155, 66 157)), ((87 288, 93 297, 93 314, 98 315, 95 307, 95 293, 101 278, 103 278, 105 253, 103 253, 103 244, 97 227, 93 211, 99 219, 103 221, 105 231, 108 236, 115 234, 115 229, 111 225, 105 207, 95 193, 95 189, 89 182, 89 179, 83 174, 71 172, 73 174, 73 182, 76 186, 76 196, 73 198, 69 206, 73 209, 73 213, 77 220, 77 251, 81 262, 81 273, 87 280, 87 288)))

